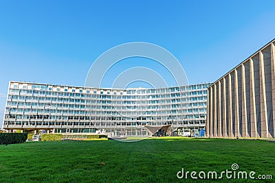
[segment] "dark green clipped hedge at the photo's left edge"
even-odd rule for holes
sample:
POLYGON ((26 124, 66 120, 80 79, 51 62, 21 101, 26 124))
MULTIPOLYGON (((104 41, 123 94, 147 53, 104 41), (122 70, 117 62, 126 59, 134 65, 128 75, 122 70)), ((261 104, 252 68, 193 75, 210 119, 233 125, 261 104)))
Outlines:
POLYGON ((27 137, 28 133, 0 133, 0 144, 23 143, 27 137))

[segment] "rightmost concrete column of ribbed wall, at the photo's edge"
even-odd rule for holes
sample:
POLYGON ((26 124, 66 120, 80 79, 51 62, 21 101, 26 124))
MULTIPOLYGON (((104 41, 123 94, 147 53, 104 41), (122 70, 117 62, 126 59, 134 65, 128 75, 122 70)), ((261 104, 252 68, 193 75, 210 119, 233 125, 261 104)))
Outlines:
POLYGON ((273 138, 275 138, 275 46, 271 43, 271 84, 272 84, 272 111, 273 111, 273 138))

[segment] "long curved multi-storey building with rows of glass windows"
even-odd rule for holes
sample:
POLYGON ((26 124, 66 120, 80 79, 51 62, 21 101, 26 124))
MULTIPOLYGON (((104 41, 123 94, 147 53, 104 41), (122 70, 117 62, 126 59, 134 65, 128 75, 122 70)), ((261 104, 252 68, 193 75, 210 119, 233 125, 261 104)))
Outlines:
POLYGON ((89 88, 10 82, 3 128, 148 136, 144 125, 199 130, 206 125, 207 88, 89 88))

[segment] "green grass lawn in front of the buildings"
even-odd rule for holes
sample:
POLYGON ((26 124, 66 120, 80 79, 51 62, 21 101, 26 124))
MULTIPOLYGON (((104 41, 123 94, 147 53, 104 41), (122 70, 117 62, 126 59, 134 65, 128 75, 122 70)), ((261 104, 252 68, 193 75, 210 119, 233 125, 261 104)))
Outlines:
MULTIPOLYGON (((0 145, 0 182, 195 182, 184 171, 255 171, 275 179, 275 143, 203 138, 0 145), (101 165, 104 162, 105 165, 101 165)), ((247 182, 248 180, 215 180, 247 182)), ((249 182, 259 180, 249 180, 249 182)), ((199 182, 203 182, 199 180, 199 182)), ((204 180, 210 182, 210 180, 204 180)), ((212 181, 211 181, 212 182, 212 181)), ((265 180, 268 182, 268 180, 265 180)))

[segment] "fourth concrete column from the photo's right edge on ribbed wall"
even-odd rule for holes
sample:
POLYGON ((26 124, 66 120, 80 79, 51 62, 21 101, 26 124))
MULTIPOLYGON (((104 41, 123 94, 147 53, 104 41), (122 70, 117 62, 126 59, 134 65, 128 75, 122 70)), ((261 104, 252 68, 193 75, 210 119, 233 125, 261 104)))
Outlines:
POLYGON ((242 136, 245 137, 245 136, 249 136, 248 135, 248 111, 247 111, 247 108, 246 108, 246 93, 245 93, 245 65, 242 64, 241 65, 241 91, 242 91, 242 136))

